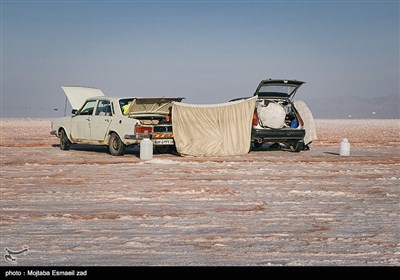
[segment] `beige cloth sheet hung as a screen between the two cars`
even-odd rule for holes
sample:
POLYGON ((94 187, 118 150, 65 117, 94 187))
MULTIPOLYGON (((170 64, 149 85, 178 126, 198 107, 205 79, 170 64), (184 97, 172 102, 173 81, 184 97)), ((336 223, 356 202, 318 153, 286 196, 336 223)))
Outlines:
POLYGON ((256 97, 222 104, 174 102, 172 127, 183 156, 232 156, 250 151, 256 97))

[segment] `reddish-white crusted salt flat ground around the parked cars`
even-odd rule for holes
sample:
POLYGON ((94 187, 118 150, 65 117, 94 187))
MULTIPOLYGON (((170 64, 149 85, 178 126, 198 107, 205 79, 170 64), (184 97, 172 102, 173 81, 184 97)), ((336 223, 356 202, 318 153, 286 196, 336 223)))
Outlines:
POLYGON ((1 119, 0 250, 28 245, 23 266, 399 266, 400 121, 316 125, 310 151, 141 161, 1 119))

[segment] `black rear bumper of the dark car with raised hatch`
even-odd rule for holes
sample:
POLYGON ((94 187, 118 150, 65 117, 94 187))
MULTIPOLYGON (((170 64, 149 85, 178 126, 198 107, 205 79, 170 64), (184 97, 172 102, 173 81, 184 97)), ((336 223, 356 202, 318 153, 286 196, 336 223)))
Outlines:
POLYGON ((304 129, 256 129, 251 131, 251 139, 258 142, 286 142, 291 140, 303 140, 306 135, 304 129))

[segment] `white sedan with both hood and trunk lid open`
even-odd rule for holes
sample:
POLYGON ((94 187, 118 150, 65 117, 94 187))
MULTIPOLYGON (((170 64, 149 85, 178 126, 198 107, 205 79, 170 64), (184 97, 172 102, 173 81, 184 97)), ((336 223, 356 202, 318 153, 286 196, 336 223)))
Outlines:
POLYGON ((183 98, 105 97, 99 89, 62 87, 72 105, 72 116, 53 119, 50 134, 60 138, 61 150, 71 144, 107 145, 112 155, 150 138, 158 152, 174 147, 172 102, 183 98))

